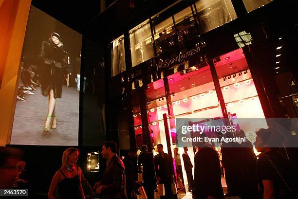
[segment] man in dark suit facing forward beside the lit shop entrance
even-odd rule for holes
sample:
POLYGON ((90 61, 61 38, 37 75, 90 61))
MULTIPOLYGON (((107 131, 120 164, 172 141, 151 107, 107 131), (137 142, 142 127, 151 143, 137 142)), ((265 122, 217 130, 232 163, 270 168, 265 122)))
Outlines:
POLYGON ((171 182, 174 180, 173 165, 171 157, 164 152, 162 144, 157 145, 158 154, 154 156, 154 166, 158 183, 165 185, 166 196, 161 196, 161 199, 172 199, 171 182))

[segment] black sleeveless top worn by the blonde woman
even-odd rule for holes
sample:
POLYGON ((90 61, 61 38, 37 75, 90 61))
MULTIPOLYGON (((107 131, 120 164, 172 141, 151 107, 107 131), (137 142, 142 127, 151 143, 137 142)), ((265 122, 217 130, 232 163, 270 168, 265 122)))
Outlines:
POLYGON ((80 178, 77 174, 73 178, 67 178, 62 170, 59 170, 64 179, 58 183, 58 191, 61 199, 82 199, 82 195, 80 193, 80 178))

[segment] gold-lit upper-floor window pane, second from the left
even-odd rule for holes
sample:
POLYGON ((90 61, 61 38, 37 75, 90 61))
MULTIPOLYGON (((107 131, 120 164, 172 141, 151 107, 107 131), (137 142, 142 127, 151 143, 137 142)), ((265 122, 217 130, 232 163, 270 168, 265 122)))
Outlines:
POLYGON ((130 30, 132 67, 154 56, 149 19, 130 30))

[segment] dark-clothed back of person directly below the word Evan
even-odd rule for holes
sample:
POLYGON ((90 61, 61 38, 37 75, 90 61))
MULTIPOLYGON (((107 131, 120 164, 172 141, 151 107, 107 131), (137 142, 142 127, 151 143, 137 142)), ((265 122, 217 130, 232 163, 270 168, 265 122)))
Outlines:
POLYGON ((194 163, 193 195, 195 199, 224 199, 217 152, 213 148, 198 147, 194 163))

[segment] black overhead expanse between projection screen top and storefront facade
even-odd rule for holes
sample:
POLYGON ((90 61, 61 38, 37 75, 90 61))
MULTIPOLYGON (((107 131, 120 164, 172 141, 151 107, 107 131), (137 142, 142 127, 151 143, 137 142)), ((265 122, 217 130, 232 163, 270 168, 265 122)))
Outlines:
POLYGON ((101 44, 141 23, 177 0, 106 0, 100 13, 100 0, 32 0, 32 5, 75 31, 101 44))

